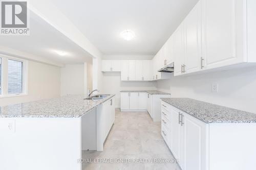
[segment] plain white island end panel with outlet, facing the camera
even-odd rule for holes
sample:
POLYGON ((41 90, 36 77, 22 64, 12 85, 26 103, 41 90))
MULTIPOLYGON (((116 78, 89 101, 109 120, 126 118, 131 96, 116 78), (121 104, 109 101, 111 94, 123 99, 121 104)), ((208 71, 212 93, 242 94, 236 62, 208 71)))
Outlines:
POLYGON ((80 170, 80 118, 0 118, 0 169, 80 170))

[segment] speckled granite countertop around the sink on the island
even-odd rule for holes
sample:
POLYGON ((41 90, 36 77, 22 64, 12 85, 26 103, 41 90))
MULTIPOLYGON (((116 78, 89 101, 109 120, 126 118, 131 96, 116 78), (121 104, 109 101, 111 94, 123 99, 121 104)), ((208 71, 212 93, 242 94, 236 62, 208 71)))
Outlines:
POLYGON ((60 98, 20 103, 0 107, 0 117, 81 117, 99 104, 109 100, 83 100, 86 95, 67 95, 60 98))

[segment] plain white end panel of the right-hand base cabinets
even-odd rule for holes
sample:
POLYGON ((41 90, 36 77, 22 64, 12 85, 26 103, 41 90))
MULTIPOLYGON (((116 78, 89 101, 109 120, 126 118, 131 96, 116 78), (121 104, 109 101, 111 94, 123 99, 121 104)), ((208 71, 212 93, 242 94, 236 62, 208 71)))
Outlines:
POLYGON ((209 170, 256 167, 256 124, 209 124, 209 170))

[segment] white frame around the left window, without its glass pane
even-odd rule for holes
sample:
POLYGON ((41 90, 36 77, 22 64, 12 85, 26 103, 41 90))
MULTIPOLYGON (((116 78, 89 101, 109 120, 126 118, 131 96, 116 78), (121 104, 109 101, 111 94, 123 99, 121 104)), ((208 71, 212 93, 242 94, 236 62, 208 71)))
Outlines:
POLYGON ((2 94, 0 94, 0 98, 12 98, 17 96, 28 95, 28 60, 3 54, 0 54, 0 58, 2 58, 2 94), (23 62, 22 93, 8 93, 8 59, 23 62))

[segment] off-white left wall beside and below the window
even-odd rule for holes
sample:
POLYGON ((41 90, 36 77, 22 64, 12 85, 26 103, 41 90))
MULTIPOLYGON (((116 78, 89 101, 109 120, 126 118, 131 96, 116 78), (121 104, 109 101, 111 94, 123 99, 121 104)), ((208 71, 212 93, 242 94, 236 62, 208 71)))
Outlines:
POLYGON ((56 98, 60 95, 60 67, 28 61, 28 95, 0 98, 0 106, 56 98))

